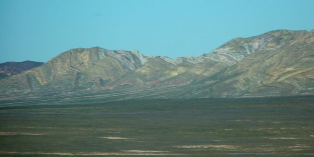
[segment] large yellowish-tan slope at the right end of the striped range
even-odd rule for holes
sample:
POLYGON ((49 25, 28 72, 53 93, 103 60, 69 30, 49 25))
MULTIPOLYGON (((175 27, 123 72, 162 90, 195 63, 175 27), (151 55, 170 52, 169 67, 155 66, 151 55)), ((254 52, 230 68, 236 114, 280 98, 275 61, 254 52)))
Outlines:
POLYGON ((199 91, 206 91, 213 97, 314 94, 314 32, 304 35, 303 32, 301 35, 295 35, 292 31, 284 33, 281 36, 287 44, 283 45, 282 40, 271 42, 268 47, 274 47, 275 44, 281 46, 275 50, 258 50, 248 55, 224 73, 207 78, 216 82, 199 91), (291 39, 291 36, 294 37, 291 39))

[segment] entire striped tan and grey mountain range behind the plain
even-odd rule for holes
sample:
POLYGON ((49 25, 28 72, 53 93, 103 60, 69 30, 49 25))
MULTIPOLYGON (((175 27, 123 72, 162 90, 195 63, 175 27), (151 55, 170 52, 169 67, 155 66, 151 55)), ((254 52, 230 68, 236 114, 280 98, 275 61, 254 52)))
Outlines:
POLYGON ((314 31, 270 31, 175 59, 137 50, 72 49, 0 80, 0 93, 2 100, 64 101, 314 95, 314 31))

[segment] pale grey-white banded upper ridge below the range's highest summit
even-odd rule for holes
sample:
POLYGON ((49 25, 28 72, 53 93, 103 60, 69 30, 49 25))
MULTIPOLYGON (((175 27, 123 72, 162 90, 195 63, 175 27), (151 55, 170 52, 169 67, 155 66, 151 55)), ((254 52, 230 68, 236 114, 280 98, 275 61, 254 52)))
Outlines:
POLYGON ((235 65, 246 56, 262 50, 276 50, 289 44, 308 31, 275 30, 250 38, 235 38, 218 47, 206 56, 210 60, 235 65))

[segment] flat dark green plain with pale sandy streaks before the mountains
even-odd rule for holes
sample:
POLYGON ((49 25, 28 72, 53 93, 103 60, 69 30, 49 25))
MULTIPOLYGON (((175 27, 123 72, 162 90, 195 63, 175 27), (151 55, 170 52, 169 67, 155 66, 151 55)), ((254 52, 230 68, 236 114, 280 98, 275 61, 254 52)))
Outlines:
POLYGON ((3 106, 0 156, 314 156, 314 96, 3 106))

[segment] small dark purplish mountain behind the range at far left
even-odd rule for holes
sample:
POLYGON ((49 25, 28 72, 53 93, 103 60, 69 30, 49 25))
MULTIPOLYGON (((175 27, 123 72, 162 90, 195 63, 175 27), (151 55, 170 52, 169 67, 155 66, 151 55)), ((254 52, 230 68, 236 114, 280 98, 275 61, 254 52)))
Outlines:
POLYGON ((44 64, 43 62, 24 61, 24 62, 5 62, 0 64, 0 79, 12 75, 28 71, 37 66, 44 64))

